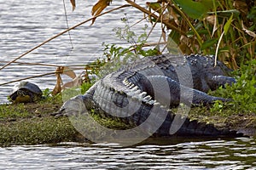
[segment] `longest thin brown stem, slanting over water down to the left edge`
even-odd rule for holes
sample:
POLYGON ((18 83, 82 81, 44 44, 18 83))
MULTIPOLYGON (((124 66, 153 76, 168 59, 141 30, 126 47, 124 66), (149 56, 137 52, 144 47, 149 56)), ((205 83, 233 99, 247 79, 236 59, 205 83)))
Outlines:
POLYGON ((10 61, 8 64, 3 65, 3 67, 0 68, 0 71, 3 70, 3 69, 4 69, 5 67, 7 67, 8 65, 14 63, 16 60, 18 60, 18 59, 20 59, 21 57, 25 56, 26 54, 29 54, 29 53, 31 53, 33 50, 35 50, 35 49, 37 49, 37 48, 43 46, 45 43, 50 42, 51 40, 55 39, 56 37, 60 37, 62 34, 66 33, 67 31, 71 31, 71 30, 75 29, 76 27, 79 27, 79 26, 85 24, 86 22, 89 22, 90 20, 94 20, 94 19, 96 19, 97 17, 102 16, 103 14, 108 14, 108 13, 114 11, 114 10, 118 10, 119 8, 125 8, 125 7, 130 7, 130 6, 131 6, 131 5, 129 5, 129 4, 125 4, 125 5, 122 5, 122 6, 120 6, 120 7, 110 9, 110 10, 108 10, 108 11, 102 13, 102 14, 97 14, 96 16, 93 16, 93 17, 91 17, 91 18, 88 19, 88 20, 84 20, 83 22, 80 22, 80 23, 79 23, 78 25, 76 25, 76 26, 70 27, 69 29, 67 29, 67 30, 65 30, 65 31, 62 31, 61 33, 55 35, 54 37, 50 37, 48 40, 46 40, 46 41, 40 43, 38 46, 36 46, 36 47, 34 47, 34 48, 28 50, 26 53, 21 54, 21 55, 20 55, 19 57, 17 57, 16 59, 13 59, 12 61, 10 61))

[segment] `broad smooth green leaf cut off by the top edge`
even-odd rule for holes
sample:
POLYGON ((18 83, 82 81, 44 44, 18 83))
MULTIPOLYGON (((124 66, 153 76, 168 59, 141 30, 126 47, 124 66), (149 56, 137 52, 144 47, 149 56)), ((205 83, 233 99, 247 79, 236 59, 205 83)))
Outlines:
POLYGON ((185 14, 193 19, 199 19, 212 8, 212 0, 201 0, 195 2, 192 0, 174 0, 185 14))

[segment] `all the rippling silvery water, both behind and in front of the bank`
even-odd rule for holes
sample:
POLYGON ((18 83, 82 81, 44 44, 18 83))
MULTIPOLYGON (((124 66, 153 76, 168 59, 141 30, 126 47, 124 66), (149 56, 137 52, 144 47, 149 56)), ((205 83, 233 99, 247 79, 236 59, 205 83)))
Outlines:
MULTIPOLYGON (((144 5, 144 1, 136 1, 144 5)), ((66 1, 68 23, 74 26, 90 18, 90 1, 77 1, 71 11, 66 1)), ((125 1, 113 1, 115 8, 125 1)), ((53 65, 84 65, 102 56, 102 42, 124 44, 112 31, 124 26, 121 9, 96 20, 93 26, 71 31, 19 59, 20 62, 53 65)), ((143 18, 137 9, 129 8, 131 24, 143 18)), ((133 27, 138 34, 145 23, 133 27)), ((0 1, 0 60, 10 61, 40 42, 66 29, 62 1, 10 0, 0 1)), ((149 30, 149 29, 148 29, 149 30)), ((159 35, 150 37, 157 42, 159 35)), ((5 63, 0 62, 0 66, 5 63)), ((15 81, 55 71, 55 67, 12 64, 0 71, 0 83, 15 81)), ((79 71, 77 71, 79 73, 79 71)), ((43 89, 55 86, 55 77, 33 78, 43 89)), ((7 102, 14 83, 0 86, 0 103, 7 102)), ((0 148, 0 169, 256 169, 256 139, 167 139, 121 148, 118 144, 54 144, 0 148)))

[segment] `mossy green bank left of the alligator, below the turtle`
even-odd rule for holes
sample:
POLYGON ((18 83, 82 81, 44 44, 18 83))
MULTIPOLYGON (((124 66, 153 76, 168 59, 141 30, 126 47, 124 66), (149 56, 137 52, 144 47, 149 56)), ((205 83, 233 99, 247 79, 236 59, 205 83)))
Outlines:
MULTIPOLYGON (((68 117, 55 119, 54 116, 50 116, 50 113, 58 111, 61 105, 61 97, 32 104, 0 105, 0 146, 86 140, 73 127, 68 117)), ((105 127, 127 127, 122 122, 98 116, 94 118, 105 127)), ((96 130, 94 127, 85 128, 90 128, 91 133, 96 130)))

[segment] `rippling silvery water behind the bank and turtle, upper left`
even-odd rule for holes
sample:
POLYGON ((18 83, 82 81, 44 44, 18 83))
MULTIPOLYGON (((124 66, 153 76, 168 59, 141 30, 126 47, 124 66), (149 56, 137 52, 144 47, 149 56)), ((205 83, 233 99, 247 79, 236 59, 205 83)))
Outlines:
MULTIPOLYGON (((94 3, 96 1, 78 1, 76 10, 72 12, 70 1, 66 0, 68 25, 75 26, 88 20, 91 17, 90 11, 94 3)), ((116 8, 124 3, 125 1, 113 1, 107 9, 116 8)), ((143 1, 137 3, 145 6, 143 1)), ((128 8, 128 11, 127 17, 131 25, 144 17, 135 8, 128 8)), ((88 22, 71 31, 73 48, 66 33, 17 61, 51 65, 88 64, 90 61, 102 57, 102 42, 125 44, 124 41, 116 37, 113 31, 113 28, 125 26, 120 20, 125 17, 125 13, 127 13, 127 9, 119 9, 98 18, 93 26, 90 26, 91 22, 88 22)), ((144 21, 131 29, 140 35, 143 32, 142 27, 146 23, 144 21)), ((17 58, 20 54, 24 54, 27 50, 66 30, 66 28, 62 1, 11 0, 8 3, 0 1, 0 67, 6 64, 3 61, 8 62, 17 58)), ((148 31, 149 29, 150 26, 148 31)), ((154 37, 150 37, 149 42, 159 40, 160 32, 154 32, 157 34, 153 33, 154 37)), ((53 72, 55 68, 42 65, 12 64, 0 71, 0 84, 53 72)), ((82 70, 76 72, 79 74, 82 70)), ((67 77, 64 77, 64 80, 65 78, 67 81, 71 81, 67 77)), ((53 74, 33 78, 30 81, 36 82, 42 89, 53 89, 56 80, 53 74)), ((7 96, 11 93, 13 86, 14 83, 0 86, 0 103, 8 101, 7 96)))

